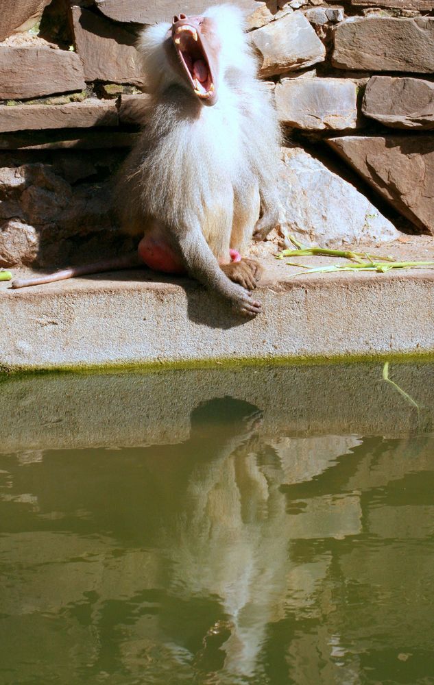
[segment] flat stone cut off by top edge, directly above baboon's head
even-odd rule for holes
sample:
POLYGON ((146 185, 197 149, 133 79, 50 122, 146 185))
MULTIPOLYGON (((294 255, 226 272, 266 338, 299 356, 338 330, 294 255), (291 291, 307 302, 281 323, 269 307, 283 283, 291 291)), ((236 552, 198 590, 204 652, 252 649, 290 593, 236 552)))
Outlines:
MULTIPOLYGON (((180 6, 178 0, 96 0, 100 12, 114 21, 138 24, 154 24, 157 21, 171 21, 173 14, 201 14, 204 7, 221 5, 221 0, 184 0, 180 6)), ((258 0, 232 0, 233 5, 241 8, 245 14, 251 14, 258 8, 265 7, 265 2, 258 0)))

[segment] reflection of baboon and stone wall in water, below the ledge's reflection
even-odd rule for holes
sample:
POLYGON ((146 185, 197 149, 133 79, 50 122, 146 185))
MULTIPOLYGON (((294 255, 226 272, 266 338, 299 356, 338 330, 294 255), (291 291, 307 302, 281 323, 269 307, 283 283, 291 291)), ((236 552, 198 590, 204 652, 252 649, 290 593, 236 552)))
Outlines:
POLYGON ((434 682, 433 437, 261 416, 0 455, 1 685, 434 682))

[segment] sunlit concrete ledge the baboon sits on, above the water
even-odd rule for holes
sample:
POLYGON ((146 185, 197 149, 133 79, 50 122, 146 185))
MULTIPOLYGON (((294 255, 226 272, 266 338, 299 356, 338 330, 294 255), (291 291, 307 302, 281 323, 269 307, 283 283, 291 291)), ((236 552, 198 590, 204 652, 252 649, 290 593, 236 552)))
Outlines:
POLYGON ((265 266, 257 291, 264 312, 253 321, 234 316, 190 279, 145 270, 23 290, 2 283, 0 367, 89 369, 434 352, 433 270, 291 277, 300 269, 272 257, 265 266))

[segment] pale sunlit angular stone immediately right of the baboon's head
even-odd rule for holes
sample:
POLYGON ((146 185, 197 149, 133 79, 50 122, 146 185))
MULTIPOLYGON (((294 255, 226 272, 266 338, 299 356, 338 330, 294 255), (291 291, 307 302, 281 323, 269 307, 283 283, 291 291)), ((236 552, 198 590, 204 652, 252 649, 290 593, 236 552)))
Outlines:
POLYGON ((302 12, 293 12, 250 34, 261 58, 261 76, 324 62, 326 49, 302 12))

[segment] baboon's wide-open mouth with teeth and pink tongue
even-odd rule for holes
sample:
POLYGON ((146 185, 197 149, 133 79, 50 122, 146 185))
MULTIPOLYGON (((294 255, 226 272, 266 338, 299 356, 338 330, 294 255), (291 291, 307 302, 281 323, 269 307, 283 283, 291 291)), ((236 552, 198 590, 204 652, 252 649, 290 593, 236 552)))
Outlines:
POLYGON ((172 40, 195 95, 211 104, 216 97, 213 73, 197 29, 187 23, 178 25, 172 40))

